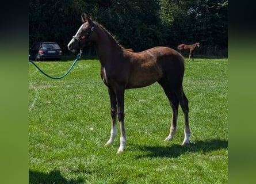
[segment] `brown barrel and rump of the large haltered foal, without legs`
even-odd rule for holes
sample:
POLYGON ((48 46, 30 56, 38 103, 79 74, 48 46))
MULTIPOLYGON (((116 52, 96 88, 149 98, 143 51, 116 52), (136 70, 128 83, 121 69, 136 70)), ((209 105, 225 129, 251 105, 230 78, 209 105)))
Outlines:
POLYGON ((127 89, 145 87, 165 77, 182 81, 184 58, 174 49, 154 47, 127 55, 130 61, 127 89))

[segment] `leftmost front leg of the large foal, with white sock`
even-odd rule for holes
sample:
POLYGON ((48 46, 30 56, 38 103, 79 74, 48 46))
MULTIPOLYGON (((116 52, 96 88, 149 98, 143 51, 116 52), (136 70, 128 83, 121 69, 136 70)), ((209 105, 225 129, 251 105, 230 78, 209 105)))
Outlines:
POLYGON ((108 89, 108 92, 110 97, 110 112, 111 112, 112 124, 111 124, 110 138, 105 145, 112 144, 117 135, 116 133, 116 111, 117 111, 116 94, 114 94, 114 92, 110 89, 108 89))

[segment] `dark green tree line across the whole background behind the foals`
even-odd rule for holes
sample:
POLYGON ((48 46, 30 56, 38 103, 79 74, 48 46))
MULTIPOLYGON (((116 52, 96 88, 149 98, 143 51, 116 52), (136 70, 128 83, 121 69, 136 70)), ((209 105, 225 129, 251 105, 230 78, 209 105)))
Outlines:
POLYGON ((135 52, 200 42, 195 54, 227 56, 227 8, 224 0, 30 0, 29 47, 56 41, 69 53, 67 44, 86 12, 135 52))

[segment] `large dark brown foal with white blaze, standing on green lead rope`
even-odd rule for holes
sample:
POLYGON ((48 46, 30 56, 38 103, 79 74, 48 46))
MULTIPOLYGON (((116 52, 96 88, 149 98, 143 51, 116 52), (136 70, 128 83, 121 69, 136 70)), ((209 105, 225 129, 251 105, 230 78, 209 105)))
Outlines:
MULTIPOLYGON (((88 43, 95 45, 101 63, 101 78, 108 87, 112 127, 110 138, 105 145, 113 143, 117 135, 117 118, 120 122, 120 147, 123 152, 127 141, 124 127, 124 91, 145 87, 158 82, 167 95, 172 109, 170 133, 165 141, 173 138, 177 130, 178 106, 185 116, 184 141, 189 143, 189 106, 184 94, 184 57, 168 47, 154 47, 143 52, 125 49, 100 24, 93 22, 87 14, 82 14, 83 24, 68 43, 72 52, 79 51, 88 43)), ((149 122, 150 123, 150 122, 149 122)))

